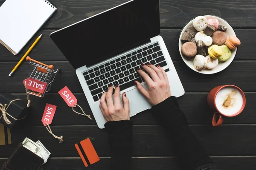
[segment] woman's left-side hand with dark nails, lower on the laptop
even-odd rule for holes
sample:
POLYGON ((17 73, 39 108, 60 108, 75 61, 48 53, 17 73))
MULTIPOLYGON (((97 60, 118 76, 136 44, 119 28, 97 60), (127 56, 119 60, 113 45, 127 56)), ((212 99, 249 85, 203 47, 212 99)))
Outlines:
POLYGON ((99 108, 102 111, 105 121, 130 120, 129 99, 126 97, 126 94, 122 94, 124 104, 124 107, 122 107, 119 86, 115 88, 114 101, 112 93, 113 86, 111 85, 99 100, 99 108))

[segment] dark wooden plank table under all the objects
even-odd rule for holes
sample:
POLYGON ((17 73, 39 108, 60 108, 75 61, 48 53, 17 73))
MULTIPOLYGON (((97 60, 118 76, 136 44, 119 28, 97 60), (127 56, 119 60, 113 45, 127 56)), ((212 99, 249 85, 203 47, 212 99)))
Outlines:
MULTIPOLYGON (((4 0, 0 0, 2 5, 4 0)), ((76 77, 75 70, 49 38, 49 34, 84 18, 90 17, 126 0, 52 0, 58 11, 47 21, 17 56, 0 45, 0 93, 9 92, 26 100, 23 79, 29 65, 24 62, 9 77, 8 74, 39 34, 43 37, 29 56, 61 68, 52 91, 40 99, 30 96, 33 112, 12 129, 12 144, 0 146, 0 166, 25 137, 40 140, 52 153, 45 170, 109 170, 111 151, 107 133, 97 127, 95 120, 77 115, 59 96, 58 91, 68 86, 78 104, 90 115, 90 107, 76 77), (42 125, 46 103, 57 105, 52 130, 64 136, 59 144, 42 125), (90 138, 100 161, 84 167, 74 144, 90 138)), ((160 0, 161 36, 166 42, 186 94, 179 98, 189 125, 203 144, 212 160, 221 170, 256 169, 256 0, 160 0), (241 40, 236 58, 224 71, 203 75, 192 71, 178 52, 181 28, 198 15, 216 15, 227 20, 241 40), (246 95, 247 104, 239 116, 225 119, 221 127, 212 127, 212 111, 208 108, 207 93, 218 85, 239 86, 246 95)), ((102 26, 104 27, 104 26, 102 26)), ((148 111, 131 118, 133 133, 133 170, 177 170, 172 148, 166 134, 148 111)))

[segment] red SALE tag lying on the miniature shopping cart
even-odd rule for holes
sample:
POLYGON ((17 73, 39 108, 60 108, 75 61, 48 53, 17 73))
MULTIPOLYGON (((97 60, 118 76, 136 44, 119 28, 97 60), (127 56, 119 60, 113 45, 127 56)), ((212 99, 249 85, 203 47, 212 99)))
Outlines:
POLYGON ((37 91, 38 93, 44 93, 44 90, 47 86, 46 82, 41 82, 41 81, 39 81, 37 79, 33 79, 31 77, 23 80, 24 85, 25 85, 25 82, 26 82, 27 89, 32 90, 32 91, 37 91))

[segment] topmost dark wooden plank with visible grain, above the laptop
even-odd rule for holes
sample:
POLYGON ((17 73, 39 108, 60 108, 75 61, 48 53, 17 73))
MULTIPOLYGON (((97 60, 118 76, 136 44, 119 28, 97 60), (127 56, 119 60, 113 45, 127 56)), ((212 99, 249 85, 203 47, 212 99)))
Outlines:
MULTIPOLYGON (((44 25, 44 28, 63 28, 84 20, 99 12, 127 2, 128 0, 52 0, 58 8, 44 25)), ((0 1, 0 6, 4 1, 0 1)), ((256 26, 255 0, 161 0, 161 27, 182 28, 189 20, 198 15, 216 15, 227 20, 233 27, 256 26)))

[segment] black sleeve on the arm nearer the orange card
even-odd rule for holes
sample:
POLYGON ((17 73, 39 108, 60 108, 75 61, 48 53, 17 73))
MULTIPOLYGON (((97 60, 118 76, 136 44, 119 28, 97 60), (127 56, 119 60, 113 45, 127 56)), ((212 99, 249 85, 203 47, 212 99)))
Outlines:
POLYGON ((111 170, 131 170, 132 122, 107 122, 105 128, 112 151, 111 170))

